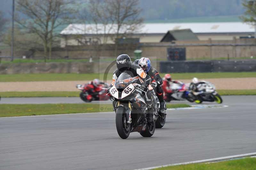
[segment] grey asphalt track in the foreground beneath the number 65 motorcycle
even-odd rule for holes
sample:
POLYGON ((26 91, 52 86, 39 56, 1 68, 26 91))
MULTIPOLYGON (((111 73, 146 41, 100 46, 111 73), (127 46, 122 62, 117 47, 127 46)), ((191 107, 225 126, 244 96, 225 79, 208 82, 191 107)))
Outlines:
POLYGON ((228 107, 167 111, 150 138, 121 139, 113 112, 0 118, 0 169, 136 169, 256 152, 256 96, 223 98, 228 107))

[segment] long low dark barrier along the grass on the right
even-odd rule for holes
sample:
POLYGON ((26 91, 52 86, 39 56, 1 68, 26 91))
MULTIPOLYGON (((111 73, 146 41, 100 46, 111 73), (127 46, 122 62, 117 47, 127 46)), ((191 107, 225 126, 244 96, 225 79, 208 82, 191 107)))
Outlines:
POLYGON ((161 73, 253 72, 256 60, 161 61, 161 73))

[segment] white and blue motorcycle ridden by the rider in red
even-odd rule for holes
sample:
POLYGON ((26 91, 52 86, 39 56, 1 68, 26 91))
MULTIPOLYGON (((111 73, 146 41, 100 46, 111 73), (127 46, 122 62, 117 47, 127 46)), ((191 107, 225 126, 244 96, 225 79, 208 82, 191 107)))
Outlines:
POLYGON ((170 102, 171 100, 184 101, 188 100, 194 102, 189 95, 189 84, 185 84, 181 81, 172 82, 170 85, 170 89, 172 89, 173 93, 166 93, 164 98, 166 102, 170 102))

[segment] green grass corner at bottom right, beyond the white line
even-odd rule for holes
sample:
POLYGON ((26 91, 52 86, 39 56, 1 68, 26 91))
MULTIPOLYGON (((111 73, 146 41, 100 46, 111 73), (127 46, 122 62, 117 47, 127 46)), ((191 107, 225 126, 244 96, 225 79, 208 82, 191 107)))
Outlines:
POLYGON ((255 170, 256 158, 242 158, 209 164, 187 164, 157 168, 156 170, 255 170))

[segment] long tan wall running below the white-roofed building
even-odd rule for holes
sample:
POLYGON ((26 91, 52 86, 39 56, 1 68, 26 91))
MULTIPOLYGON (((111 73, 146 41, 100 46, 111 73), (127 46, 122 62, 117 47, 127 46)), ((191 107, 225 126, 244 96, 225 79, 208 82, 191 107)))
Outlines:
MULTIPOLYGON (((234 39, 232 41, 175 41, 172 43, 140 43, 132 45, 122 45, 115 51, 114 44, 86 45, 86 46, 67 46, 65 48, 52 49, 52 58, 90 58, 104 56, 111 57, 119 54, 134 56, 133 51, 141 49, 142 56, 157 57, 165 60, 167 48, 186 48, 186 58, 240 58, 256 56, 255 39, 234 39)), ((15 56, 26 55, 27 51, 15 51, 15 56)), ((8 51, 2 51, 2 56, 7 56, 8 51)), ((43 51, 36 51, 33 58, 43 58, 43 51)))

